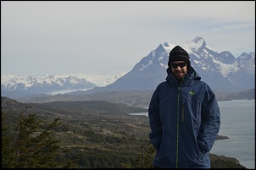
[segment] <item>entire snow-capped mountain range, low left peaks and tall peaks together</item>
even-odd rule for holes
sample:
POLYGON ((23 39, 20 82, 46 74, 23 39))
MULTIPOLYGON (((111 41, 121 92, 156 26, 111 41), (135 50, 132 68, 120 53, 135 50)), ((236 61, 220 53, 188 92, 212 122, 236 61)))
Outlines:
POLYGON ((242 52, 235 58, 231 52, 215 52, 202 37, 185 44, 164 42, 136 63, 128 73, 120 75, 65 74, 46 76, 1 76, 1 91, 19 90, 30 93, 52 93, 59 90, 154 90, 164 81, 170 50, 183 47, 192 67, 212 89, 220 91, 255 88, 255 52, 242 52))

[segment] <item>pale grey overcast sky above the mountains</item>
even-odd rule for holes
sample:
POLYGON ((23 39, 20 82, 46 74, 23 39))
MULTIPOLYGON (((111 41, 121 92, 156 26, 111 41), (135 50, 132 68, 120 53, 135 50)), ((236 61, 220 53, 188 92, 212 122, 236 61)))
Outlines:
POLYGON ((255 52, 255 1, 1 1, 1 74, 121 74, 196 36, 255 52))

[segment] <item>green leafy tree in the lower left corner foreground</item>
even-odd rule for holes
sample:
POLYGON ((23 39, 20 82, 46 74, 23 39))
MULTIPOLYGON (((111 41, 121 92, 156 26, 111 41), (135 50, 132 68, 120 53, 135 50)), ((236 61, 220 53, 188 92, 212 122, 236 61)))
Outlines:
POLYGON ((14 133, 7 132, 2 115, 2 167, 5 168, 47 168, 70 167, 72 162, 62 165, 55 161, 66 151, 60 147, 61 140, 54 139, 52 129, 59 124, 59 118, 42 129, 43 122, 35 114, 26 115, 26 109, 19 114, 14 133))

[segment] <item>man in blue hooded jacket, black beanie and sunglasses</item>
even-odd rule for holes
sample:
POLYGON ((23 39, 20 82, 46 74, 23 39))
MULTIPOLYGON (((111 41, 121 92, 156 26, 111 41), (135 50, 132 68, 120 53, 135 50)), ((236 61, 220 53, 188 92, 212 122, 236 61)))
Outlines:
POLYGON ((220 130, 214 91, 192 68, 180 46, 170 51, 168 76, 148 107, 153 167, 210 168, 209 151, 220 130))

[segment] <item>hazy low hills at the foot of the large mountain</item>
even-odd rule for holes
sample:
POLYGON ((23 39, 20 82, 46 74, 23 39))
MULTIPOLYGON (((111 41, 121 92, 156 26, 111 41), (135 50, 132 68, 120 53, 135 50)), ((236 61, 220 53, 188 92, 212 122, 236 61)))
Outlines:
MULTIPOLYGON (((238 92, 215 91, 217 101, 250 100, 255 99, 255 89, 238 92)), ((51 102, 51 101, 109 101, 114 103, 125 103, 131 106, 149 105, 153 90, 115 90, 101 91, 86 94, 85 91, 75 91, 55 96, 31 96, 16 99, 21 102, 51 102)))

